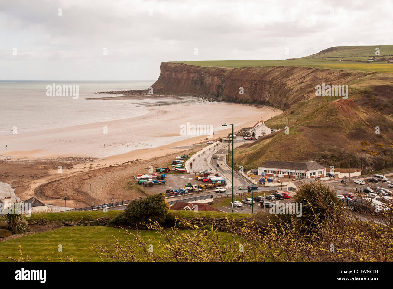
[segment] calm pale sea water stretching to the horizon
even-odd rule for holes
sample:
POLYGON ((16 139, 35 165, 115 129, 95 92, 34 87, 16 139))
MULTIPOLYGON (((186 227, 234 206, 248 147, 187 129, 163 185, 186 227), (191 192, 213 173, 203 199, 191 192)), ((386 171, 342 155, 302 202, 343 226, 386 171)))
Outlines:
MULTIPOLYGON (((147 113, 140 101, 99 101, 87 98, 116 96, 95 94, 151 87, 146 81, 0 81, 0 135, 118 120, 147 113), (46 96, 46 86, 79 85, 79 98, 46 96)), ((147 100, 150 101, 150 100, 147 100)), ((153 100, 151 100, 153 101, 153 100)), ((144 101, 146 103, 146 101, 144 101)))

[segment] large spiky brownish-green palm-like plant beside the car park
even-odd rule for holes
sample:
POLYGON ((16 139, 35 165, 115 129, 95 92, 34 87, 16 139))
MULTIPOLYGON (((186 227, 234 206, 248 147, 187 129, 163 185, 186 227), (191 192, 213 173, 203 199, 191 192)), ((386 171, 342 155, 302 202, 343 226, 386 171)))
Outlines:
POLYGON ((302 214, 296 223, 303 232, 310 232, 325 221, 338 221, 343 215, 342 202, 335 190, 320 180, 303 182, 294 199, 302 204, 302 214))

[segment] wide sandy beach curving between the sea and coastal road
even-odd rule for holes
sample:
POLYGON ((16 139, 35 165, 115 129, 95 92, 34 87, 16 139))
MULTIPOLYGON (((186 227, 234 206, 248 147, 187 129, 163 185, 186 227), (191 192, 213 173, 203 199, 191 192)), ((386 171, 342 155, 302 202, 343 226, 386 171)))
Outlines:
POLYGON ((233 122, 236 131, 281 113, 261 105, 209 101, 160 103, 148 110, 134 118, 1 136, 1 143, 7 144, 0 154, 1 181, 11 184, 22 200, 35 196, 58 206, 64 204, 64 195, 70 199, 70 207, 90 204, 87 182, 93 183, 95 204, 111 197, 133 199, 143 196, 129 184, 135 173, 147 171, 149 166, 166 166, 175 156, 200 149, 187 149, 187 145, 228 136, 231 127, 222 127, 223 123, 233 122), (212 125, 214 135, 181 135, 180 125, 187 122, 212 125))

